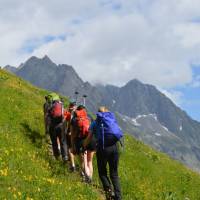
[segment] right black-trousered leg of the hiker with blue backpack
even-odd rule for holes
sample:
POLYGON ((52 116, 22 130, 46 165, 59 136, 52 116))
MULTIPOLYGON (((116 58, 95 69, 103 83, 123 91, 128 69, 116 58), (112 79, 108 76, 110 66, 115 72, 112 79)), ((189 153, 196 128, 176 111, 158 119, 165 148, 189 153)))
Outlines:
POLYGON ((118 176, 119 153, 116 145, 113 145, 110 150, 112 151, 108 159, 110 179, 114 187, 115 200, 121 200, 121 187, 118 176))

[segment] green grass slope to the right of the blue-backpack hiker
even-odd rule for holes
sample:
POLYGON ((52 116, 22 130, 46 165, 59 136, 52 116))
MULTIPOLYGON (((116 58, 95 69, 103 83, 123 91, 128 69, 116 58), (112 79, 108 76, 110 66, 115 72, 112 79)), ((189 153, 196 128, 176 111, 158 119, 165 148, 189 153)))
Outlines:
POLYGON ((141 142, 126 137, 121 156, 120 175, 125 199, 198 200, 200 176, 156 152, 141 142))

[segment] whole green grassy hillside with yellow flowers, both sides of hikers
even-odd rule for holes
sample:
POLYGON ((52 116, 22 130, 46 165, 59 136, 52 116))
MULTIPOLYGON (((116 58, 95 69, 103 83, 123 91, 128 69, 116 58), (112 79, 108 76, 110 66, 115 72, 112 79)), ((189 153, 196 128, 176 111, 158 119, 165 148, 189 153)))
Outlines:
MULTIPOLYGON (((102 199, 53 161, 44 140, 45 91, 0 70, 0 199, 102 199)), ((124 199, 200 199, 200 176, 168 156, 125 138, 120 160, 124 199)), ((95 183, 98 185, 95 166, 95 183)))

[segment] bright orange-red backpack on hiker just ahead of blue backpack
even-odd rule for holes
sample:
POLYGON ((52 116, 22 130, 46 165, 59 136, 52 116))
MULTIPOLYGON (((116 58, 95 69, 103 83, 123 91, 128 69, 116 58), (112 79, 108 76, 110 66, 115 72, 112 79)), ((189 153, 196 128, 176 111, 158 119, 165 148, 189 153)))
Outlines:
POLYGON ((79 137, 85 138, 88 135, 88 130, 90 126, 90 120, 87 116, 87 112, 85 109, 76 110, 76 125, 79 129, 79 137))

